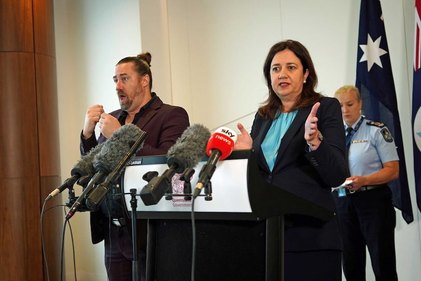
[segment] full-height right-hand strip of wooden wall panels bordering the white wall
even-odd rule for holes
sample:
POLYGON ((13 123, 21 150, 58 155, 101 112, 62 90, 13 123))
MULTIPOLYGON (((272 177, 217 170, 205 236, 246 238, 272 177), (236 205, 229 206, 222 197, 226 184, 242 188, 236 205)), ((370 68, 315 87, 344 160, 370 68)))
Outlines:
MULTIPOLYGON (((47 195, 61 183, 53 1, 33 0, 33 15, 42 206, 47 195)), ((44 262, 44 281, 48 277, 49 280, 60 280, 64 210, 62 206, 52 208, 61 203, 59 198, 46 202, 44 208, 48 211, 42 215, 44 250, 48 264, 47 269, 44 262)))

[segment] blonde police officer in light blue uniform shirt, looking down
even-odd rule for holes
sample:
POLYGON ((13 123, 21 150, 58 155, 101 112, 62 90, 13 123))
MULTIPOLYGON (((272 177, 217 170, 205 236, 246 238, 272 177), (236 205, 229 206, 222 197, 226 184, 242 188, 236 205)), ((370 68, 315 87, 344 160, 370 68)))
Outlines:
POLYGON ((341 222, 344 275, 347 281, 365 280, 367 246, 376 280, 398 280, 396 214, 387 186, 399 176, 395 142, 385 124, 360 114, 358 88, 343 86, 335 98, 339 100, 347 133, 347 180, 352 181, 345 189, 333 192, 341 222))

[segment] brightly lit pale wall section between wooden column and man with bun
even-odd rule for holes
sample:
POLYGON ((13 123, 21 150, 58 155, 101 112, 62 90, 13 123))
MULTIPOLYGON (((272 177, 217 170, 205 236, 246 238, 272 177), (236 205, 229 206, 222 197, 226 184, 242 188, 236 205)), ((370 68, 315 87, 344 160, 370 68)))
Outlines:
MULTIPOLYGON (((54 1, 61 171, 63 180, 80 159, 79 140, 86 109, 118 107, 112 79, 114 65, 142 51, 138 0, 54 1)), ((97 132, 97 135, 99 133, 97 132)), ((82 192, 75 186, 76 195, 82 192)), ((63 193, 63 202, 67 195, 63 193)), ((64 216, 63 216, 64 217, 64 216)), ((75 244, 77 280, 107 280, 104 243, 92 245, 89 214, 69 220, 75 244)), ((62 228, 62 226, 57 226, 62 228)), ((71 235, 64 245, 65 276, 74 280, 71 235)))

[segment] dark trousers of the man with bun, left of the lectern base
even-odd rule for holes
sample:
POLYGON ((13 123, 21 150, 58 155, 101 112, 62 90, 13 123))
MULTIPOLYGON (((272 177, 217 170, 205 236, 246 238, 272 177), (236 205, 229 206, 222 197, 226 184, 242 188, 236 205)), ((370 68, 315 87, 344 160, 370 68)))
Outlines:
MULTIPOLYGON (((109 281, 133 280, 133 243, 125 226, 111 224, 105 235, 105 268, 109 281)), ((138 251, 141 281, 146 278, 146 252, 138 251)))

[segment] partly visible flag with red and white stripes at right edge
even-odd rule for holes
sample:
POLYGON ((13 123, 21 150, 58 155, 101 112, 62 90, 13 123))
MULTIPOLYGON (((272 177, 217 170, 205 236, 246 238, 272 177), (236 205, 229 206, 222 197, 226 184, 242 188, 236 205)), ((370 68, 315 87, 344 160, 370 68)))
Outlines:
POLYGON ((414 172, 417 205, 421 211, 421 0, 415 0, 414 84, 412 89, 412 128, 414 130, 414 172))

